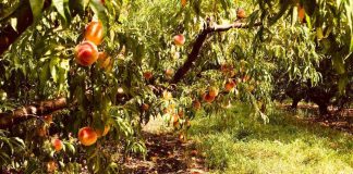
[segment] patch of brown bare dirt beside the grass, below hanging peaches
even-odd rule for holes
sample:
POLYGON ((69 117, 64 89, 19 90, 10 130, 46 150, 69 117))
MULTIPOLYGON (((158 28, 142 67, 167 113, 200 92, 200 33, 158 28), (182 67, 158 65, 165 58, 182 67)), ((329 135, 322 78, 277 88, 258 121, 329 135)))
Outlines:
POLYGON ((208 173, 204 158, 191 140, 181 142, 178 136, 143 133, 146 139, 146 160, 142 157, 130 158, 124 163, 125 173, 134 174, 203 174, 208 173))

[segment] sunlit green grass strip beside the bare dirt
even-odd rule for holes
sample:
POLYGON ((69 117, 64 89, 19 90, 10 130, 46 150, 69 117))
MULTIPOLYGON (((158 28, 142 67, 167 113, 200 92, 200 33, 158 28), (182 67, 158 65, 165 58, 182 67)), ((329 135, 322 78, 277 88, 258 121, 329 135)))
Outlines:
POLYGON ((211 173, 353 173, 353 136, 308 125, 285 112, 270 122, 238 104, 228 116, 196 117, 188 136, 211 173))

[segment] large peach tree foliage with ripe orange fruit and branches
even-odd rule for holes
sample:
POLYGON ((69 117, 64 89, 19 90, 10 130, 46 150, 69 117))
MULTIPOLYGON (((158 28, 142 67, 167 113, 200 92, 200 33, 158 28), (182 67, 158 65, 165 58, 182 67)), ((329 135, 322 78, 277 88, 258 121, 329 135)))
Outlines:
POLYGON ((322 60, 344 94, 352 5, 3 0, 2 170, 117 172, 129 153, 146 152, 142 125, 156 116, 181 140, 195 115, 222 115, 234 102, 267 122, 278 76, 317 85, 322 60))

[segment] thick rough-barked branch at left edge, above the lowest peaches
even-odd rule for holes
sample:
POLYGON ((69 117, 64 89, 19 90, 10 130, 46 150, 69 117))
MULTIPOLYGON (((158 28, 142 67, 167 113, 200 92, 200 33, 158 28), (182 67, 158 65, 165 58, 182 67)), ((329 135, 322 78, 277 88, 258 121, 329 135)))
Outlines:
POLYGON ((53 111, 62 110, 66 107, 66 98, 59 98, 3 112, 0 113, 0 128, 11 127, 12 125, 19 124, 20 122, 26 121, 31 117, 50 114, 53 111))

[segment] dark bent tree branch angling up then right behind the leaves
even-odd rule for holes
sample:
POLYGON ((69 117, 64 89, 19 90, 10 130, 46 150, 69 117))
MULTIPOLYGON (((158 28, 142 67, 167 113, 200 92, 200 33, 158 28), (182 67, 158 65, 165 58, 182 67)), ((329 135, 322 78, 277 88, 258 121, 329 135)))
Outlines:
POLYGON ((198 58, 199 51, 207 38, 207 35, 215 32, 227 32, 232 28, 251 28, 253 26, 260 26, 261 23, 255 23, 253 25, 244 23, 233 23, 224 25, 207 25, 207 27, 197 36, 195 44, 193 46, 192 52, 187 55, 187 60, 184 64, 176 71, 170 84, 178 84, 190 71, 195 61, 198 58))

